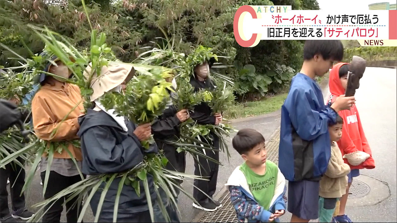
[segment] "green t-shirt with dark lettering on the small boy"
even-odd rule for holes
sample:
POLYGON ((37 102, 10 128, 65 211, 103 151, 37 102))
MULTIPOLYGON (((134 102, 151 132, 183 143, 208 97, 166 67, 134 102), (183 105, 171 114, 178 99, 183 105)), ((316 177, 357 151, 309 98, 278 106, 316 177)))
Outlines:
POLYGON ((266 160, 266 172, 264 175, 258 175, 252 171, 244 162, 240 166, 240 170, 244 173, 249 190, 254 196, 256 202, 266 210, 270 208, 276 188, 278 168, 272 161, 266 160))

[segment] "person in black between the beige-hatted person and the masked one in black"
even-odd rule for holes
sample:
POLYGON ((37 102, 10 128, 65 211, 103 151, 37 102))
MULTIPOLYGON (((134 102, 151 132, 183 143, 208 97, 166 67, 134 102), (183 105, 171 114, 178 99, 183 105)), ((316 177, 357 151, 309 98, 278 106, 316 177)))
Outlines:
MULTIPOLYGON (((173 79, 174 87, 176 88, 176 82, 173 79)), ((176 96, 175 92, 170 92, 171 96, 176 96)), ((172 104, 172 100, 168 102, 168 108, 166 108, 162 115, 155 119, 152 123, 152 134, 153 138, 156 141, 156 144, 160 150, 164 152, 164 156, 168 159, 168 163, 166 164, 166 169, 172 171, 178 171, 180 173, 185 173, 186 168, 186 154, 184 151, 177 152, 177 146, 172 143, 167 143, 170 141, 177 141, 180 137, 180 125, 184 121, 189 119, 189 112, 187 109, 182 109, 180 111, 177 110, 176 106, 172 104)), ((181 180, 175 180, 177 184, 181 184, 181 180)), ((179 189, 174 188, 179 195, 179 189)), ((168 216, 170 217, 171 222, 180 222, 179 217, 176 212, 176 208, 173 207, 173 204, 169 202, 167 196, 165 195, 164 190, 160 188, 161 199, 163 201, 164 206, 166 206, 166 210, 168 216)), ((177 200, 177 196, 175 197, 177 200)), ((156 206, 156 221, 157 222, 165 222, 160 207, 156 206)))

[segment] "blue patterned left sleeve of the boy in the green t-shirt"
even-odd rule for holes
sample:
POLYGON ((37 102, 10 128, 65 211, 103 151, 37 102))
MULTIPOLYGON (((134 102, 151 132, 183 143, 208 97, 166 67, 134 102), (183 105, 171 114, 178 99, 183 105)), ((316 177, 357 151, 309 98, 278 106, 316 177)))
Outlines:
POLYGON ((265 210, 262 206, 254 201, 247 201, 245 194, 239 189, 238 186, 229 186, 230 200, 233 204, 237 215, 260 222, 268 222, 270 215, 269 211, 265 210))

